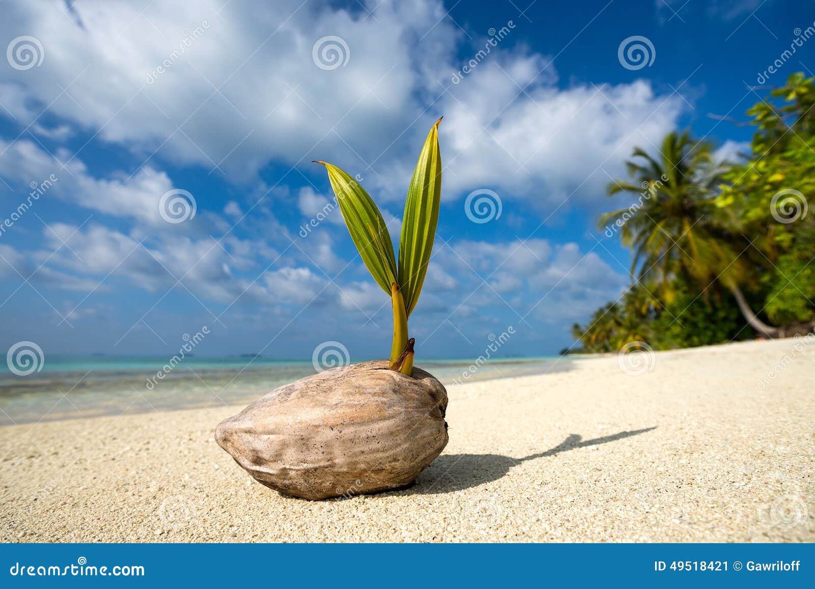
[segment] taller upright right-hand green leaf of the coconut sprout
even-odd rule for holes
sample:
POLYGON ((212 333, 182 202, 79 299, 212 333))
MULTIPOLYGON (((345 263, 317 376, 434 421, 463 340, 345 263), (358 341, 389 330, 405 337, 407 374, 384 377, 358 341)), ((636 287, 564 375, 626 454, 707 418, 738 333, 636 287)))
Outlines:
POLYGON ((438 204, 442 191, 442 156, 438 149, 438 123, 430 129, 422 147, 410 187, 402 218, 402 236, 399 240, 399 289, 410 315, 419 301, 421 285, 425 282, 427 264, 433 251, 433 240, 438 222, 438 204))

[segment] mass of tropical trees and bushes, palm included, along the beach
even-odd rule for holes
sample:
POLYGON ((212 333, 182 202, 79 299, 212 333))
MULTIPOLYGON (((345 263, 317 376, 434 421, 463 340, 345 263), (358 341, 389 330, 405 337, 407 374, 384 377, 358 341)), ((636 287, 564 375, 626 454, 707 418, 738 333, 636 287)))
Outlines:
POLYGON ((608 193, 637 198, 598 220, 631 250, 632 284, 575 323, 575 345, 669 349, 813 328, 813 106, 813 78, 793 74, 747 111, 756 132, 738 163, 687 131, 668 134, 655 155, 633 151, 630 179, 608 193))

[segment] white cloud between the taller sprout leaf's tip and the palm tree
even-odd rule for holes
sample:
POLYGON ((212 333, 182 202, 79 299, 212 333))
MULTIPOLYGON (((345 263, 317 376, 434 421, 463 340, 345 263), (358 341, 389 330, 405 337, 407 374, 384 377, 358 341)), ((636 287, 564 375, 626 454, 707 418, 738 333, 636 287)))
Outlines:
POLYGON ((645 81, 557 90, 534 68, 501 67, 482 65, 451 89, 441 126, 448 194, 491 187, 546 212, 572 194, 573 204, 596 205, 632 149, 659 144, 681 112, 681 99, 659 97, 645 81))

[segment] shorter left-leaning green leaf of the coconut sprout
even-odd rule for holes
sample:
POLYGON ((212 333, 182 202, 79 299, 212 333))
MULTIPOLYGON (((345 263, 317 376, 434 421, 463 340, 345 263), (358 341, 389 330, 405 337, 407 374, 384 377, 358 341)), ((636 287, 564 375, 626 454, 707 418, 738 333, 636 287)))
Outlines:
POLYGON ((394 244, 390 241, 388 228, 377 205, 359 182, 337 166, 324 161, 316 163, 324 165, 328 170, 328 180, 340 204, 342 218, 345 219, 348 232, 365 266, 368 266, 373 279, 390 296, 390 285, 397 282, 394 244))

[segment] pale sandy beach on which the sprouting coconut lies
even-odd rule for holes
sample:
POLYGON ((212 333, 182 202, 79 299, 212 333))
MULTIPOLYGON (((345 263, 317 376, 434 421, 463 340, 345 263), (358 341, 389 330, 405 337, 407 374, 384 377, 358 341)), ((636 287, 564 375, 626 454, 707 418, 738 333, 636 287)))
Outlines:
POLYGON ((9 425, 0 540, 812 542, 813 376, 815 342, 787 339, 448 387, 450 442, 415 486, 323 502, 218 447, 241 407, 9 425))

